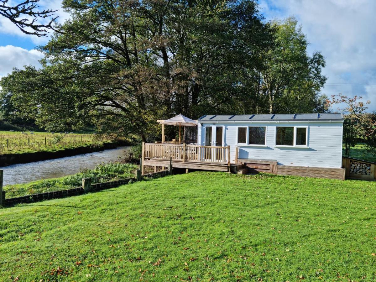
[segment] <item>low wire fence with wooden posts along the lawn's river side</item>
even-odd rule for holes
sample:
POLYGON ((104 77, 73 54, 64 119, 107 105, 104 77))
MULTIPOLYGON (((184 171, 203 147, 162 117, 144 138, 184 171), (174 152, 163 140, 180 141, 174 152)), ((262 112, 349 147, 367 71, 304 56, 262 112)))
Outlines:
MULTIPOLYGON (((76 195, 81 195, 84 193, 96 192, 96 191, 105 190, 109 188, 115 188, 115 187, 118 187, 127 183, 136 182, 136 181, 156 179, 159 177, 172 175, 172 174, 173 174, 172 166, 169 166, 167 170, 156 171, 156 172, 147 173, 144 175, 142 175, 141 170, 138 169, 135 171, 135 177, 115 179, 115 180, 98 182, 98 183, 91 183, 92 178, 87 177, 87 178, 82 179, 82 186, 80 187, 26 195, 26 196, 21 196, 21 197, 6 198, 6 191, 3 191, 3 170, 0 170, 0 195, 1 195, 0 206, 14 206, 14 205, 23 204, 23 203, 34 203, 34 202, 63 198, 63 197, 68 197, 68 196, 76 196, 76 195)), ((115 175, 114 177, 116 178, 115 175)))

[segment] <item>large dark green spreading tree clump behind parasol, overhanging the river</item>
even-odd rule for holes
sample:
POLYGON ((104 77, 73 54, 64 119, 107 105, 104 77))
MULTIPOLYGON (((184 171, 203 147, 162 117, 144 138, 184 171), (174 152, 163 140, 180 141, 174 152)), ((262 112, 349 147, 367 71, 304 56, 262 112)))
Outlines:
POLYGON ((63 5, 72 19, 42 47, 42 69, 2 80, 3 92, 47 128, 89 118, 104 131, 155 138, 158 119, 231 102, 252 45, 269 36, 253 1, 63 5))

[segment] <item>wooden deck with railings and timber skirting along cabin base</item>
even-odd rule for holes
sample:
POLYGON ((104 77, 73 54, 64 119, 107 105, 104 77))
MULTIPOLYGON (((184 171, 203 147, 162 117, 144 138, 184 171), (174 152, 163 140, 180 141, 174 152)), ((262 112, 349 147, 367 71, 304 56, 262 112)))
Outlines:
MULTIPOLYGON (((238 147, 234 150, 235 162, 231 164, 230 146, 143 143, 141 173, 144 174, 145 166, 168 167, 171 159, 173 167, 186 170, 232 171, 238 174, 267 172, 280 175, 345 179, 344 168, 300 167, 277 165, 277 160, 270 159, 238 159, 238 147)), ((374 177, 374 174, 362 177, 370 178, 374 177)))

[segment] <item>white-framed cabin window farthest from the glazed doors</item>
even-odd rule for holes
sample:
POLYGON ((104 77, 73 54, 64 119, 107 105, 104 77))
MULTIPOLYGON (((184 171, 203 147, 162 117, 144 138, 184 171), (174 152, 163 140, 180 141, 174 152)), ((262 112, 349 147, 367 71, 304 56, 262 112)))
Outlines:
POLYGON ((277 126, 276 146, 307 146, 307 127, 277 126))

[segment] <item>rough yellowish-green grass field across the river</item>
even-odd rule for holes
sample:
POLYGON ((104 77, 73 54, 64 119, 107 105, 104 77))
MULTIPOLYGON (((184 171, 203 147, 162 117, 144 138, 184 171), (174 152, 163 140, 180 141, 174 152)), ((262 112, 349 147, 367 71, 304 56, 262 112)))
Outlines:
POLYGON ((68 148, 76 148, 88 144, 100 144, 100 136, 85 133, 59 132, 21 132, 0 131, 0 154, 25 153, 25 152, 55 152, 68 148))

